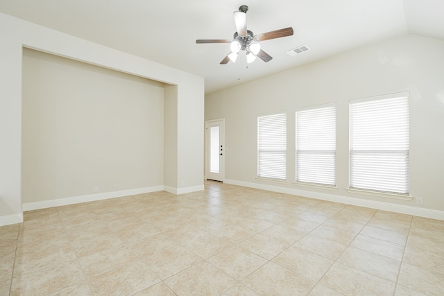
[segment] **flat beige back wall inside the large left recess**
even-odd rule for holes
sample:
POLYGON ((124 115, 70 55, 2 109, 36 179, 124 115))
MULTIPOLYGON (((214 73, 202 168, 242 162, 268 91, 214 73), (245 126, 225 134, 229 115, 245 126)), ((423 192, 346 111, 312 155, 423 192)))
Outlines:
POLYGON ((22 75, 22 202, 164 184, 163 83, 31 49, 22 75))

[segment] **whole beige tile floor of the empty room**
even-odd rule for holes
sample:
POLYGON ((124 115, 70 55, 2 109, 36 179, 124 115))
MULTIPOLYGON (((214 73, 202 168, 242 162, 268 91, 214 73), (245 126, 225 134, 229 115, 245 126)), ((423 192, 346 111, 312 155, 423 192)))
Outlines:
POLYGON ((444 295, 444 221, 205 182, 28 211, 0 295, 444 295))

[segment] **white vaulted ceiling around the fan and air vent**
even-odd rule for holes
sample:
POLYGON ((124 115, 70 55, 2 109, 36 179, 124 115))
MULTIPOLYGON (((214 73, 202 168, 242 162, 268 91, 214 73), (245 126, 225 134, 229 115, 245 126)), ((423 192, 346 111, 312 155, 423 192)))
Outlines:
POLYGON ((206 93, 407 33, 444 40, 443 0, 0 0, 0 12, 205 77, 206 93), (221 65, 229 44, 196 44, 232 39, 241 5, 255 35, 293 27, 262 42, 268 63, 221 65))

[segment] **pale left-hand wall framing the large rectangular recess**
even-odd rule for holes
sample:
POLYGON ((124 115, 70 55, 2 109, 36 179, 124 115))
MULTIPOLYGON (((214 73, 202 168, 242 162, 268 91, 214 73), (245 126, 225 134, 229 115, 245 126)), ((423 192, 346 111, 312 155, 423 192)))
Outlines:
MULTIPOLYGON (((204 158, 204 79, 202 77, 81 40, 1 12, 0 28, 8 28, 8 30, 0 30, 2 41, 0 46, 0 225, 22 222, 24 209, 57 207, 148 191, 167 190, 172 193, 187 193, 203 190, 201 168, 204 158), (173 168, 169 168, 167 174, 176 174, 171 179, 178 180, 177 187, 162 185, 142 190, 121 190, 109 193, 102 191, 103 193, 73 198, 58 198, 52 202, 24 203, 22 201, 22 51, 24 48, 176 86, 178 91, 170 92, 171 96, 176 96, 174 99, 177 101, 177 105, 173 106, 176 107, 177 124, 176 128, 171 128, 173 132, 171 139, 175 140, 173 142, 176 143, 176 148, 165 149, 163 153, 164 159, 176 159, 176 163, 169 162, 168 165, 173 168), (183 168, 184 164, 189 163, 194 164, 194 167, 183 168)), ((171 106, 164 105, 165 107, 171 106)))

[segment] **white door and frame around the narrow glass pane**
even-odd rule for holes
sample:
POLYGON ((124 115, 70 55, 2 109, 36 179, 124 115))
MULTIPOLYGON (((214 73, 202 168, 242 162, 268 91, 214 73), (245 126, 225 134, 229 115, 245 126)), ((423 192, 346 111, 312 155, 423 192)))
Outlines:
POLYGON ((225 180, 225 119, 212 119, 205 121, 205 180, 223 182, 225 180), (220 122, 219 143, 222 146, 222 155, 219 157, 219 176, 210 173, 210 125, 220 122))

